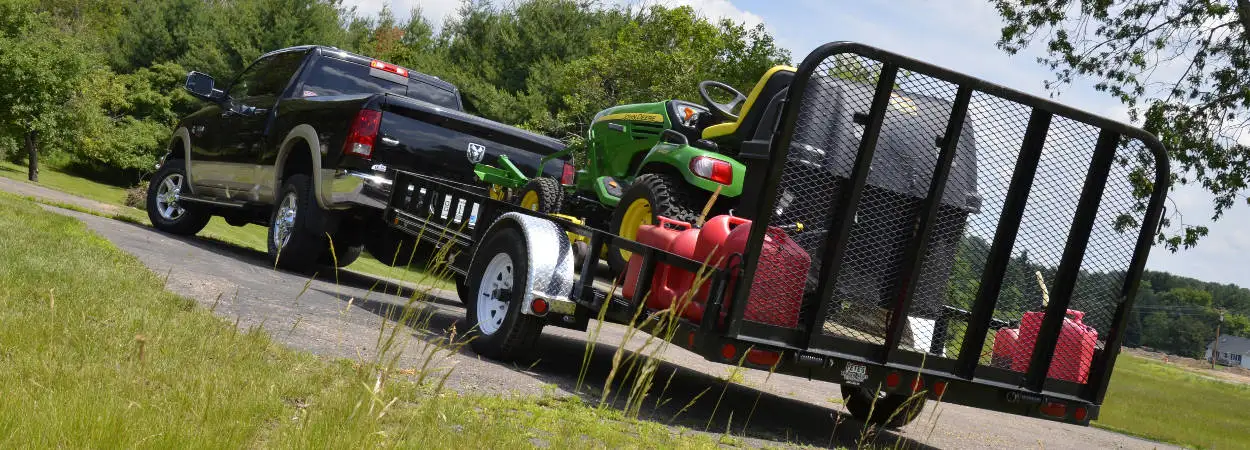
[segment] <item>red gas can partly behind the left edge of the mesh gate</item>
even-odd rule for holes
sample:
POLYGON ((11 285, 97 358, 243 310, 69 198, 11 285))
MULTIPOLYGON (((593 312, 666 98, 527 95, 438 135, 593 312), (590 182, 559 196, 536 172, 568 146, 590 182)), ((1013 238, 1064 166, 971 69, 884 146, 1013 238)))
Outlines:
MULTIPOLYGON (((718 216, 712 220, 716 220, 718 229, 725 226, 730 229, 730 232, 724 238, 722 244, 715 239, 719 235, 710 236, 705 241, 704 249, 715 249, 711 260, 720 261, 724 266, 730 255, 746 250, 751 222, 725 216, 718 216)), ((802 288, 810 268, 811 256, 785 231, 770 228, 760 249, 759 266, 750 286, 744 318, 761 324, 798 328, 799 309, 802 306, 802 288)), ((731 295, 732 292, 726 292, 726 310, 731 306, 729 300, 731 295)), ((694 321, 702 320, 705 305, 706 294, 696 296, 695 304, 686 309, 686 318, 694 321)))

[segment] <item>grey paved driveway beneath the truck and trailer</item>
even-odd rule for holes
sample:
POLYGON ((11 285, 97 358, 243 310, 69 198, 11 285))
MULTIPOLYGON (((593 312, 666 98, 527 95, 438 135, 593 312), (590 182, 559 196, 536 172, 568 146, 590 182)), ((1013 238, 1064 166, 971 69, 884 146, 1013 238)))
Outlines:
MULTIPOLYGON (((2 180, 0 180, 2 181, 2 180)), ((28 188, 30 188, 28 185, 28 188)), ((0 189, 5 185, 0 182, 0 189)), ((39 196, 38 191, 25 195, 39 196)), ((51 194, 50 194, 51 195, 51 194)), ((64 194, 55 192, 64 196, 64 194)), ((61 199, 61 201, 65 201, 61 199)), ((395 324, 395 318, 408 299, 410 289, 374 278, 340 272, 334 276, 276 271, 266 265, 258 251, 194 238, 175 238, 129 222, 50 208, 84 221, 90 229, 118 248, 139 258, 149 269, 165 276, 168 289, 198 300, 226 320, 238 321, 241 329, 262 328, 278 341, 319 355, 369 359, 382 324, 395 324), (308 285, 308 289, 305 289, 308 285), (382 294, 388 292, 388 294, 382 294), (398 292, 398 295, 396 295, 398 292)), ((455 295, 432 291, 418 306, 429 316, 425 330, 404 329, 408 339, 401 346, 402 368, 416 368, 424 360, 428 342, 446 342, 449 329, 464 316, 455 295)), ((594 322, 591 324, 594 326, 594 322)), ((461 325, 462 330, 464 326, 461 325)), ((601 330, 600 345, 591 358, 586 374, 588 385, 601 388, 611 368, 616 344, 624 328, 608 324, 601 330)), ((435 364, 439 370, 451 369, 448 385, 465 392, 574 395, 585 355, 584 332, 548 328, 539 346, 540 360, 532 366, 512 366, 479 359, 462 349, 435 364)), ((636 348, 635 339, 626 348, 636 348)), ((652 391, 642 415, 651 420, 669 421, 684 405, 708 391, 675 424, 724 431, 732 412, 734 434, 748 444, 765 441, 808 444, 815 446, 855 446, 860 425, 835 402, 838 388, 819 381, 748 371, 741 385, 730 385, 720 406, 716 398, 725 388, 726 366, 672 348, 664 355, 658 379, 668 380, 664 391, 668 402, 651 408, 660 389, 652 391), (754 414, 750 411, 754 406, 754 414), (750 416, 748 428, 742 421, 750 416)), ((582 394, 595 398, 594 392, 582 394)), ((920 419, 901 432, 886 432, 876 444, 892 448, 941 449, 1156 449, 1155 442, 1102 431, 1092 428, 1069 426, 1042 420, 976 410, 958 405, 929 406, 920 419)))

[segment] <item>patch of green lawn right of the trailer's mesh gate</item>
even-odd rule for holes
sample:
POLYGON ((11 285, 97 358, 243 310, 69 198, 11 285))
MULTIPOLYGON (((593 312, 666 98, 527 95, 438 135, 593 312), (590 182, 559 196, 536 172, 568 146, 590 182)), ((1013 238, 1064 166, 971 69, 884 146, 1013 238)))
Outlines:
POLYGON ((1120 354, 1094 426, 1201 449, 1250 449, 1250 386, 1120 354))

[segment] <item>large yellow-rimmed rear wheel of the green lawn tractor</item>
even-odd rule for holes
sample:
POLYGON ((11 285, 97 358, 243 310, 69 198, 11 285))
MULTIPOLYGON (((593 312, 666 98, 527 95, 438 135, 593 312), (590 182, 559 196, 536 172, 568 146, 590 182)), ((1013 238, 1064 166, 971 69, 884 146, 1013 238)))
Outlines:
MULTIPOLYGON (((639 175, 612 210, 610 231, 629 240, 638 240, 638 229, 655 224, 655 216, 694 224, 699 220, 701 208, 698 188, 688 185, 681 178, 668 174, 639 175)), ((629 251, 615 246, 608 249, 608 266, 614 275, 625 271, 630 255, 629 251)))

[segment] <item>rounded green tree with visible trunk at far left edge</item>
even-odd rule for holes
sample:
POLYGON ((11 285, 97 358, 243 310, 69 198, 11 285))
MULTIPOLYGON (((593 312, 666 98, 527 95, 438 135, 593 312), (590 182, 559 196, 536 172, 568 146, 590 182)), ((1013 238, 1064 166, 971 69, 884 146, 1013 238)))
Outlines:
POLYGON ((82 44, 46 14, 0 1, 0 129, 21 136, 31 181, 39 181, 40 146, 72 134, 71 105, 94 69, 82 44))

